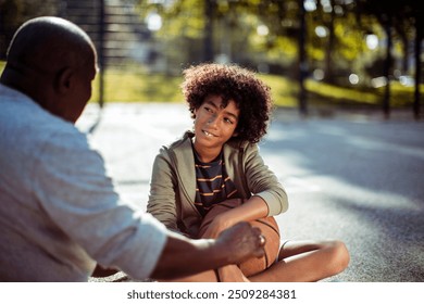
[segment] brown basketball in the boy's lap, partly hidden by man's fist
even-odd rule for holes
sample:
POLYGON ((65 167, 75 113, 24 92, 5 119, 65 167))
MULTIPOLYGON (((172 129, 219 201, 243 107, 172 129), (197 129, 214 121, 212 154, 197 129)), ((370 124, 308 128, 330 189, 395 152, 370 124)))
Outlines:
MULTIPOLYGON (((199 229, 199 236, 202 236, 205 232, 208 226, 217 214, 228 211, 229 208, 233 208, 239 204, 240 202, 235 204, 234 201, 225 201, 214 205, 204 216, 199 229)), ((246 277, 259 274, 269 268, 275 262, 279 252, 279 229, 274 217, 269 216, 265 218, 251 220, 250 225, 261 229, 261 232, 265 237, 266 242, 264 245, 265 254, 263 256, 251 257, 238 265, 246 277)))

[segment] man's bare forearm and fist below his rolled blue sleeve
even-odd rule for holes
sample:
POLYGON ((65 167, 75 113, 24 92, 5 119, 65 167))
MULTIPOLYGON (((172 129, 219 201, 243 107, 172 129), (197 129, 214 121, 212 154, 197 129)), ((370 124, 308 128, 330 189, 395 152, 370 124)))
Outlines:
POLYGON ((264 254, 261 232, 248 223, 223 231, 216 240, 190 240, 170 232, 165 248, 151 275, 154 279, 175 279, 216 269, 264 254))

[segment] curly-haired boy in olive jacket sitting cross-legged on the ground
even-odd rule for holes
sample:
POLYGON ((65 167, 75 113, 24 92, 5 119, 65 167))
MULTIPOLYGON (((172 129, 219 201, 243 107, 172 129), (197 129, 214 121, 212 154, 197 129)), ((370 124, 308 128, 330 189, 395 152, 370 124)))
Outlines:
MULTIPOLYGON (((239 221, 276 216, 288 208, 287 194, 264 164, 257 143, 266 134, 271 89, 237 65, 201 64, 184 71, 183 93, 194 131, 157 155, 148 212, 169 229, 190 238, 216 238, 239 221), (217 203, 242 204, 199 227, 217 203)), ((186 277, 185 281, 315 281, 344 270, 349 262, 342 242, 288 241, 277 261, 246 278, 237 266, 186 277)))

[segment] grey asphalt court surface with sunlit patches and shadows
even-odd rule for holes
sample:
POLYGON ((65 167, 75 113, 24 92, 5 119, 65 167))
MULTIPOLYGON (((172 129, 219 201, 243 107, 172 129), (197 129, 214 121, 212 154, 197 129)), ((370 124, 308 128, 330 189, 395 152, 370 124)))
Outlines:
MULTIPOLYGON (((327 114, 302 118, 279 110, 261 143, 289 195, 288 212, 276 217, 283 238, 347 244, 349 267, 324 281, 423 282, 423 121, 410 113, 389 121, 378 113, 327 114)), ((102 111, 89 104, 77 127, 92 129, 117 190, 145 210, 155 154, 191 119, 185 104, 111 103, 102 111)))

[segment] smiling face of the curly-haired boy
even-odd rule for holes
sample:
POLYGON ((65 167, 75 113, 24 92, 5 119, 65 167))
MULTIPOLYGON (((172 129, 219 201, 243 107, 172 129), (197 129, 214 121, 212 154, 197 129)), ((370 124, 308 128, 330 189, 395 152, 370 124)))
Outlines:
POLYGON ((195 114, 195 148, 221 150, 228 139, 237 135, 235 130, 240 110, 234 100, 229 100, 227 106, 224 107, 220 96, 208 96, 195 114))

